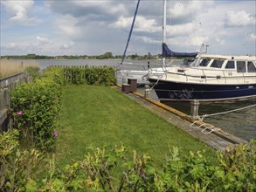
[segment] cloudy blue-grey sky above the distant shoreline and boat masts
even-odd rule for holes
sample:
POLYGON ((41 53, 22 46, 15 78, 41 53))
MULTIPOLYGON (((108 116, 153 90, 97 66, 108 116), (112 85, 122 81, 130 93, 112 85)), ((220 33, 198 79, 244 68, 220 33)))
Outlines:
MULTIPOLYGON (((137 0, 0 0, 4 55, 122 55, 137 0)), ((167 0, 173 51, 256 55, 256 1, 167 0)), ((163 0, 141 0, 127 55, 158 54, 163 0)))

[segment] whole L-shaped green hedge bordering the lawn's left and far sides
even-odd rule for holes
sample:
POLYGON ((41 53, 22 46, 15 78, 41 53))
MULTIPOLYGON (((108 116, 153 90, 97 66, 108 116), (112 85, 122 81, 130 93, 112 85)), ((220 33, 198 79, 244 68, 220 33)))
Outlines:
POLYGON ((24 145, 53 151, 59 135, 61 87, 66 83, 111 86, 115 81, 112 67, 52 67, 32 83, 11 92, 13 127, 19 130, 24 145))

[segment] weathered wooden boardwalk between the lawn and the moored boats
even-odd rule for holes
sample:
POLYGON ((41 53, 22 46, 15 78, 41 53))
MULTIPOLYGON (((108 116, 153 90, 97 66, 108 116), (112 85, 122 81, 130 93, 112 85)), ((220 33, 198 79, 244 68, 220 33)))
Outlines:
MULTIPOLYGON (((116 86, 120 89, 121 86, 116 86)), ((205 144, 218 149, 220 151, 225 151, 226 147, 234 147, 234 145, 239 143, 247 143, 232 134, 225 133, 223 130, 213 131, 210 134, 204 134, 211 131, 210 129, 205 129, 205 127, 210 127, 210 124, 205 124, 203 121, 197 121, 190 119, 190 116, 177 111, 176 109, 166 106, 155 99, 145 98, 141 93, 125 93, 131 99, 135 99, 136 102, 142 106, 148 108, 151 112, 156 113, 164 120, 169 121, 171 124, 178 128, 183 129, 186 133, 191 136, 203 141, 205 144), (194 123, 194 126, 191 124, 194 123), (203 125, 204 124, 204 125, 203 125), (204 133, 202 131, 204 130, 204 133)))

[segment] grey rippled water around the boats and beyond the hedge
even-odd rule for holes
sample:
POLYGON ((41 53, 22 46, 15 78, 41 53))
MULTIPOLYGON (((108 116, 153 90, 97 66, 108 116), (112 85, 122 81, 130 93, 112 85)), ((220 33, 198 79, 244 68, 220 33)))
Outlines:
MULTIPOLYGON (((50 65, 109 65, 119 66, 120 59, 37 59, 41 69, 50 65)), ((150 60, 151 67, 161 65, 161 60, 150 60)), ((178 62, 176 62, 178 63, 178 62)), ((143 70, 148 65, 148 60, 128 60, 123 64, 127 70, 143 70)), ((121 83, 121 76, 117 75, 118 82, 121 83)), ((138 89, 143 93, 143 88, 138 89)), ((150 97, 157 99, 154 90, 150 97)), ((199 115, 222 113, 256 104, 256 99, 236 100, 218 103, 201 103, 199 106, 199 115)), ((190 114, 190 104, 183 102, 170 102, 167 105, 176 108, 183 113, 190 114)), ((204 118, 204 122, 211 123, 215 127, 220 127, 225 132, 236 135, 246 141, 256 139, 256 107, 246 108, 232 113, 216 114, 204 118)))

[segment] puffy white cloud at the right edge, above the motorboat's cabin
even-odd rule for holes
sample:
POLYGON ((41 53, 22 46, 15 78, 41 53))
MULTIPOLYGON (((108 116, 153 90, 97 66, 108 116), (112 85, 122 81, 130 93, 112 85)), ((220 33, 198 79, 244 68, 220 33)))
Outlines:
POLYGON ((255 15, 246 13, 244 10, 238 12, 229 10, 225 14, 225 25, 228 27, 255 25, 255 19, 255 15))

